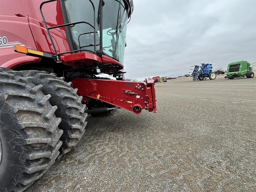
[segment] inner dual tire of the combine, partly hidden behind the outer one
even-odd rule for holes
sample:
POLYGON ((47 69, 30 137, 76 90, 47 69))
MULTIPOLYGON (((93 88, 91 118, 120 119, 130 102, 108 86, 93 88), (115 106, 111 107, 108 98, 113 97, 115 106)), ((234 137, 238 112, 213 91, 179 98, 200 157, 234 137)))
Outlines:
POLYGON ((32 76, 35 85, 42 84, 42 92, 50 95, 50 104, 57 106, 55 115, 61 118, 59 128, 63 130, 60 138, 62 146, 60 157, 68 153, 82 138, 87 124, 87 114, 84 113, 86 105, 83 105, 82 96, 76 94, 77 89, 71 87, 71 82, 67 83, 63 77, 56 74, 49 74, 46 71, 22 71, 24 76, 32 76))

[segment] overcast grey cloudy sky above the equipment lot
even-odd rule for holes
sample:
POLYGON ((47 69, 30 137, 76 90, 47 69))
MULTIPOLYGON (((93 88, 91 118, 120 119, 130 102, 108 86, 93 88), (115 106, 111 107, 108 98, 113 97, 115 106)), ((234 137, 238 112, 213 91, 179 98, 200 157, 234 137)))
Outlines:
POLYGON ((256 0, 134 0, 126 78, 176 76, 190 66, 256 62, 256 0))

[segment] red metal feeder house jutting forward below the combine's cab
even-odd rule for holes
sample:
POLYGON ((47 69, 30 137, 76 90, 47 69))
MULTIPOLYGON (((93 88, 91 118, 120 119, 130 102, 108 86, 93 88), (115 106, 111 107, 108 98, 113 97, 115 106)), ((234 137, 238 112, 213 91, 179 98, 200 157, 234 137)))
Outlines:
POLYGON ((140 114, 142 109, 156 113, 156 94, 154 81, 128 82, 117 80, 73 79, 73 88, 77 94, 87 98, 98 99, 114 106, 140 114))

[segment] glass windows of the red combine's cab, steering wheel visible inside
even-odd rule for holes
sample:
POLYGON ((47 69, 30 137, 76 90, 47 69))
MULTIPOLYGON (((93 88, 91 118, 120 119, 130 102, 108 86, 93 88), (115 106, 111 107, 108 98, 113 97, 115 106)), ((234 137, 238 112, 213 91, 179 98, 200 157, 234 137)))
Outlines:
POLYGON ((95 14, 95 50, 94 28, 85 23, 76 24, 70 28, 74 50, 84 49, 88 52, 98 52, 102 47, 103 54, 123 63, 128 20, 128 10, 123 0, 104 0, 102 10, 100 10, 100 0, 65 0, 64 5, 68 22, 84 21, 94 26, 95 14), (102 46, 100 46, 101 12, 102 46))

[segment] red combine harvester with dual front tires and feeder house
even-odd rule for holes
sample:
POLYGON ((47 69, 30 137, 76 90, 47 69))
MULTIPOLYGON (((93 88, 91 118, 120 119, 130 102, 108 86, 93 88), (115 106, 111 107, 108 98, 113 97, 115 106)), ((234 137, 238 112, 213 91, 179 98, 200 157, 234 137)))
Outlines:
POLYGON ((153 80, 124 81, 132 11, 132 0, 0 1, 0 191, 39 179, 87 114, 156 112, 153 80))

